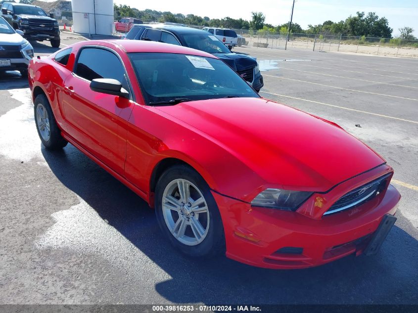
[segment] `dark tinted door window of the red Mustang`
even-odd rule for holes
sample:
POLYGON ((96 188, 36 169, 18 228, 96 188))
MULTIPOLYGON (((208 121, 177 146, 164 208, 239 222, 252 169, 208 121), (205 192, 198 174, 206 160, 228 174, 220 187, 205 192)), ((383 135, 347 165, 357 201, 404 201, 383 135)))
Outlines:
POLYGON ((112 52, 100 48, 84 48, 77 60, 75 74, 89 81, 96 78, 112 78, 129 90, 125 69, 119 58, 112 52))

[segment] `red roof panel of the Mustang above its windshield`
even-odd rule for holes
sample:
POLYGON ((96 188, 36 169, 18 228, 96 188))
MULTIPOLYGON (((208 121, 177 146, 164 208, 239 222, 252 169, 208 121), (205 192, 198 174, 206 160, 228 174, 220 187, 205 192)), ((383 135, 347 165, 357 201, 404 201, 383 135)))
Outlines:
POLYGON ((216 56, 203 52, 200 50, 188 48, 182 45, 171 45, 165 43, 157 43, 152 41, 142 40, 89 40, 79 43, 81 46, 85 45, 105 45, 110 43, 114 45, 114 48, 120 47, 127 53, 131 52, 153 52, 153 53, 179 53, 179 54, 190 54, 197 56, 204 56, 210 58, 217 58, 216 56))

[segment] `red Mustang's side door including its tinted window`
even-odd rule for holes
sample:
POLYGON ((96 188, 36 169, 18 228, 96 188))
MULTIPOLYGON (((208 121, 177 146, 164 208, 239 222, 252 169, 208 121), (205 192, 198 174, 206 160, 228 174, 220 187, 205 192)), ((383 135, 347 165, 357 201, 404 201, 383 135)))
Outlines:
POLYGON ((98 46, 82 48, 74 72, 64 82, 62 105, 68 133, 94 157, 123 175, 127 120, 133 102, 91 90, 90 83, 96 78, 116 79, 130 90, 125 67, 115 51, 98 46))

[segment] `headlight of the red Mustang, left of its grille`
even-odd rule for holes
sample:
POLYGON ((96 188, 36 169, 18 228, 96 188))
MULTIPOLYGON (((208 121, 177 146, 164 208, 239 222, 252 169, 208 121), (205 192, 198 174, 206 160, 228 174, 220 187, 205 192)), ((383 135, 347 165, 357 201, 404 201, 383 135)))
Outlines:
POLYGON ((296 211, 312 192, 268 188, 260 192, 251 202, 252 206, 285 211, 296 211))

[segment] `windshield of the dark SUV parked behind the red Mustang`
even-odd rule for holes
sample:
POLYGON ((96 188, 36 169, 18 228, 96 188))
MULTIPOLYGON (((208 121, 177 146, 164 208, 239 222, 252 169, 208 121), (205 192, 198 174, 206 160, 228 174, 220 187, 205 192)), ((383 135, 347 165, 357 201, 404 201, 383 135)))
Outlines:
POLYGON ((184 45, 189 48, 214 53, 231 53, 218 38, 211 34, 184 34, 179 35, 184 45))

